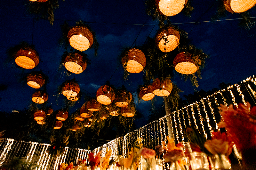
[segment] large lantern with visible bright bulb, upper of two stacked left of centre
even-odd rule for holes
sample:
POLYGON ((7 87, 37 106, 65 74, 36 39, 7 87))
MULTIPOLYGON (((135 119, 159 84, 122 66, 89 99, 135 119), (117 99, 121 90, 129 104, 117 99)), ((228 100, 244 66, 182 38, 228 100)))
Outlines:
POLYGON ((93 35, 85 26, 74 26, 68 31, 69 44, 79 51, 85 51, 92 46, 93 35))

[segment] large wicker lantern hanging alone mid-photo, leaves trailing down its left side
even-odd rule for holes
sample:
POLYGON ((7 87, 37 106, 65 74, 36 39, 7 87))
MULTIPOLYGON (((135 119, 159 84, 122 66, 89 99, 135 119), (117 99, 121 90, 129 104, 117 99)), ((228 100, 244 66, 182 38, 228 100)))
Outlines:
POLYGON ((138 49, 132 48, 122 57, 122 65, 129 73, 140 73, 146 66, 146 57, 138 49))

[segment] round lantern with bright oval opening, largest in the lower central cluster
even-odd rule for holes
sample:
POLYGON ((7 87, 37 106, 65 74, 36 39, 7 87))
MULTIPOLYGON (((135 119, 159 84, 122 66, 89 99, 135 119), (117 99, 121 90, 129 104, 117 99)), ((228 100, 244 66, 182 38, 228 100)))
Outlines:
POLYGON ((115 91, 111 86, 101 86, 96 93, 97 101, 101 104, 108 105, 115 99, 115 91))

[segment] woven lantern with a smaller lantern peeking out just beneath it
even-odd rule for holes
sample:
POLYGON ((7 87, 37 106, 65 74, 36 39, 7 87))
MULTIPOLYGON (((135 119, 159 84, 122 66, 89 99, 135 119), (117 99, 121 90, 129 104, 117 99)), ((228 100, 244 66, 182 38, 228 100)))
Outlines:
POLYGON ((79 91, 79 85, 73 80, 67 80, 62 84, 62 94, 66 97, 75 97, 79 91))

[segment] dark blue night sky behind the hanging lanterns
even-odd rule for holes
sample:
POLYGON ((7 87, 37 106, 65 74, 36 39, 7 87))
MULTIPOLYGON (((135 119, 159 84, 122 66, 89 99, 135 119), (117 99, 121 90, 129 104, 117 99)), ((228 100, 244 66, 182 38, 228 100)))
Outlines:
MULTIPOLYGON (((190 18, 183 13, 171 17, 171 21, 180 29, 188 32, 188 37, 192 44, 202 49, 210 56, 206 60, 206 67, 202 70, 202 79, 196 90, 204 91, 218 88, 220 82, 237 83, 255 74, 256 45, 255 27, 249 31, 238 27, 238 14, 231 14, 224 21, 210 21, 211 16, 216 13, 216 1, 191 1, 191 6, 195 9, 190 18), (213 5, 213 6, 212 6, 213 5), (207 12, 206 12, 207 11, 207 12), (234 19, 234 20, 230 20, 234 19), (194 24, 198 21, 199 23, 194 24), (187 24, 184 24, 187 23, 187 24)), ((28 1, 4 1, 1 0, 1 85, 6 85, 7 89, 1 91, 1 111, 11 112, 12 110, 22 110, 28 108, 31 103, 32 94, 36 91, 26 83, 18 81, 18 75, 29 73, 31 70, 21 70, 15 67, 15 62, 4 64, 7 55, 6 51, 20 41, 27 41, 34 44, 39 53, 40 63, 33 71, 42 70, 49 76, 47 92, 49 95, 48 104, 52 104, 53 110, 58 110, 62 106, 60 97, 56 103, 57 87, 66 79, 76 78, 81 88, 81 92, 96 96, 97 89, 104 85, 111 78, 110 84, 117 88, 122 84, 133 95, 136 94, 138 84, 143 84, 142 73, 130 74, 127 81, 121 81, 123 68, 118 67, 117 56, 124 47, 131 47, 138 33, 136 46, 142 45, 146 37, 154 37, 159 29, 158 22, 153 21, 145 11, 145 1, 83 1, 66 0, 59 1, 60 7, 54 11, 55 20, 50 25, 48 20, 34 19, 35 15, 27 12, 28 1), (89 23, 92 30, 96 32, 97 40, 100 44, 97 57, 93 56, 94 50, 84 51, 91 60, 85 71, 81 74, 71 74, 66 78, 63 76, 65 69, 57 73, 60 64, 60 57, 64 52, 63 47, 58 46, 58 39, 61 36, 60 25, 68 21, 70 26, 75 25, 75 21, 84 20, 89 23), (142 25, 146 24, 142 27, 142 25), (154 25, 156 25, 154 27, 154 25), (154 29, 153 29, 154 27, 154 29), (153 29, 153 30, 152 30, 153 29), (152 32, 151 32, 152 30, 152 32), (150 33, 151 32, 151 33, 150 33), (150 34, 149 34, 150 33, 150 34), (116 72, 115 72, 116 70, 116 72), (115 73, 114 73, 115 72, 115 73)), ((255 8, 250 10, 252 17, 255 17, 255 8)), ((255 18, 253 18, 255 21, 255 18)), ((177 72, 173 83, 183 91, 180 96, 194 93, 190 81, 184 82, 177 72)), ((137 97, 135 97, 137 98, 137 97)), ((163 98, 156 97, 156 103, 163 105, 163 98)), ((135 101, 136 102, 136 101, 135 101)), ((84 101, 76 103, 74 109, 80 108, 84 101)), ((148 118, 150 102, 136 102, 136 108, 144 114, 143 119, 148 118)))

